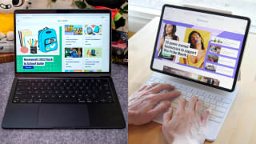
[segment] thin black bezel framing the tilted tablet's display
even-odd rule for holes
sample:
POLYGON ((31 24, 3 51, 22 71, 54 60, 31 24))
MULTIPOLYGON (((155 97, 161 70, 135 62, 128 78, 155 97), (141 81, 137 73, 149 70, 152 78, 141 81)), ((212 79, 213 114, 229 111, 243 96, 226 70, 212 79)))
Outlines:
POLYGON ((202 85, 205 85, 205 86, 214 87, 214 88, 219 89, 219 90, 225 90, 225 91, 228 91, 228 92, 232 92, 232 91, 234 91, 234 88, 235 88, 235 85, 236 85, 236 82, 237 82, 238 71, 239 71, 239 68, 240 68, 240 65, 241 65, 241 62, 242 62, 242 55, 243 55, 243 52, 244 52, 244 47, 246 45, 246 39, 247 39, 247 35, 248 35, 248 32, 249 32, 249 28, 250 28, 250 18, 246 18, 246 17, 242 17, 242 16, 238 16, 238 15, 222 14, 222 13, 208 11, 208 10, 198 10, 198 9, 189 8, 189 7, 174 6, 174 5, 167 5, 166 4, 166 5, 162 6, 162 14, 161 14, 161 18, 160 18, 160 21, 159 21, 157 37, 155 38, 154 52, 153 52, 153 55, 152 55, 152 58, 151 58, 150 70, 157 71, 157 72, 162 73, 162 74, 167 74, 167 75, 170 75, 170 76, 173 76, 173 77, 176 77, 176 78, 186 79, 186 80, 188 80, 190 82, 197 82, 199 84, 202 84, 202 85), (200 82, 200 81, 197 81, 197 80, 194 80, 194 79, 191 79, 191 78, 185 78, 185 77, 182 77, 182 76, 180 76, 178 74, 170 74, 170 73, 167 73, 165 71, 157 70, 157 69, 153 68, 154 55, 155 55, 155 51, 157 49, 158 37, 159 37, 161 25, 162 25, 162 17, 163 17, 163 14, 164 14, 164 10, 166 8, 176 8, 176 9, 181 9, 181 10, 191 10, 191 11, 202 12, 202 13, 206 13, 206 14, 220 15, 220 16, 224 16, 224 17, 228 17, 228 18, 238 18, 238 19, 242 19, 242 20, 246 20, 247 21, 246 32, 245 32, 245 36, 243 38, 242 48, 241 48, 240 56, 239 56, 239 59, 238 59, 238 66, 237 66, 237 70, 235 72, 234 82, 233 82, 233 85, 232 85, 231 89, 227 89, 225 87, 220 87, 220 86, 210 85, 210 84, 205 83, 205 82, 200 82))

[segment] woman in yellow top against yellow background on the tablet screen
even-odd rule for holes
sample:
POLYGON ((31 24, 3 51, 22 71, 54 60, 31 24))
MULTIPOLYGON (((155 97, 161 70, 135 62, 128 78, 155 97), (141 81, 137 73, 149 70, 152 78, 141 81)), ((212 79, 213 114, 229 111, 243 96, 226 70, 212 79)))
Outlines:
POLYGON ((198 55, 188 55, 187 58, 180 58, 180 63, 202 68, 205 57, 206 57, 206 48, 203 44, 203 38, 198 31, 192 31, 189 34, 188 43, 190 43, 190 48, 198 50, 198 55))

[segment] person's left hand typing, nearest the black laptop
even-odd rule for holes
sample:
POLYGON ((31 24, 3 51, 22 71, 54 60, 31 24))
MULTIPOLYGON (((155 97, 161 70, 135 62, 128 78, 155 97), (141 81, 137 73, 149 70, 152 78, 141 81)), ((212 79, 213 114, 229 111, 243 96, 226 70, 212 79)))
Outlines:
POLYGON ((177 97, 180 92, 174 91, 170 84, 154 83, 142 86, 129 98, 128 102, 128 123, 143 125, 166 111, 170 107, 170 98, 177 97), (172 90, 159 94, 162 90, 172 90))

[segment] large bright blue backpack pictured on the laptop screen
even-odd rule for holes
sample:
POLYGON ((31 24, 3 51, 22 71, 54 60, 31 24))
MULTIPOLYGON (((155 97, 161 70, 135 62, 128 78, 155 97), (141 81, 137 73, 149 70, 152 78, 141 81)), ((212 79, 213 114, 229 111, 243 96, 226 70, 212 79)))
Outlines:
POLYGON ((38 31, 38 47, 42 52, 57 50, 57 34, 54 29, 48 27, 38 31))

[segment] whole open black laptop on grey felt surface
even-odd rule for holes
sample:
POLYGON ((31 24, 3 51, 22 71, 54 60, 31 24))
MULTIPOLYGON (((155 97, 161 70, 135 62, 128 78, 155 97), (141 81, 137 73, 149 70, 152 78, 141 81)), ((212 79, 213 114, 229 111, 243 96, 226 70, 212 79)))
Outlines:
POLYGON ((124 128, 110 10, 16 10, 15 78, 2 128, 124 128))

